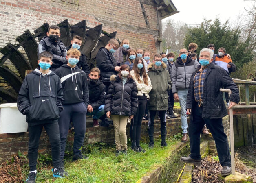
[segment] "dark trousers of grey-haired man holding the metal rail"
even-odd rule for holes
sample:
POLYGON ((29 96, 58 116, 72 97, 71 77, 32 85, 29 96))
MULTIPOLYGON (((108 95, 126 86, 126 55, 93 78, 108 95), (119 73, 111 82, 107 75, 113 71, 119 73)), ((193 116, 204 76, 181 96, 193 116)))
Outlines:
POLYGON ((227 141, 227 135, 224 133, 222 118, 203 119, 202 110, 203 107, 198 107, 197 103, 193 105, 193 119, 190 120, 188 128, 190 137, 190 157, 193 159, 201 159, 200 134, 203 125, 206 124, 212 133, 212 137, 214 138, 221 166, 231 166, 229 144, 227 141))

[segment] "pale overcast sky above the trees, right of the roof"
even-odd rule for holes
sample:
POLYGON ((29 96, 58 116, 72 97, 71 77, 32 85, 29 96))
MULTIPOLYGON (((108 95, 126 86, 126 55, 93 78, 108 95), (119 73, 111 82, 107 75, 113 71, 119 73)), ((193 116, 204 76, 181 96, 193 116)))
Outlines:
POLYGON ((179 13, 163 19, 163 24, 169 18, 174 19, 174 22, 200 24, 203 18, 213 21, 217 16, 221 23, 224 23, 228 19, 235 20, 239 13, 245 12, 244 8, 248 9, 252 4, 243 0, 172 0, 172 2, 179 13))

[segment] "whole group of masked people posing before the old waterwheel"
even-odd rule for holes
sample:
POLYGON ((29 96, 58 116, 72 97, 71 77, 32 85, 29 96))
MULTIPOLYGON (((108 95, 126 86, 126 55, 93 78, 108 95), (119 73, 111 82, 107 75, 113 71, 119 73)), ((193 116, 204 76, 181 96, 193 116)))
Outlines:
POLYGON ((239 94, 237 96, 236 85, 228 76, 228 72, 235 70, 235 65, 230 55, 225 54, 225 48, 220 48, 219 54, 214 57, 214 52, 210 50, 212 47, 214 50, 214 45, 210 44, 210 49, 201 50, 198 58, 194 53, 197 45, 192 43, 195 47, 190 48, 190 45, 189 50, 182 48, 176 62, 173 53, 155 54, 150 61, 150 52, 131 48, 128 39, 121 44, 116 39, 110 39, 97 53, 97 67, 90 70, 85 55, 79 50, 82 37, 74 36, 68 47, 59 37, 60 28, 49 26, 47 36, 38 44, 39 66, 26 75, 18 94, 17 107, 26 115, 29 131, 30 172, 26 182, 34 183, 36 179, 38 145, 43 127, 51 142, 53 177, 66 177, 64 152, 71 121, 75 129, 73 161, 88 159, 81 152, 86 115, 93 116, 95 127, 99 126, 99 119, 101 126, 109 126, 107 118, 113 121, 116 156, 127 154, 128 122, 131 123, 131 149, 145 152, 140 146, 143 118, 148 118, 149 147, 154 148, 154 119, 158 113, 161 146, 167 146, 166 118, 176 118, 173 113, 174 99, 179 99, 181 105, 183 142, 187 141, 186 113, 191 113, 190 117, 196 115, 191 119, 189 128, 192 154, 190 159, 183 161, 198 161, 201 158, 199 135, 202 129, 206 129, 203 125, 207 124, 216 140, 220 161, 224 162, 222 165, 229 165, 227 136, 221 120, 226 110, 219 88, 232 89, 230 107, 238 103, 239 94), (207 79, 209 77, 213 80, 207 79), (218 118, 218 124, 215 124, 215 118, 218 118), (216 125, 219 127, 215 131, 216 125))

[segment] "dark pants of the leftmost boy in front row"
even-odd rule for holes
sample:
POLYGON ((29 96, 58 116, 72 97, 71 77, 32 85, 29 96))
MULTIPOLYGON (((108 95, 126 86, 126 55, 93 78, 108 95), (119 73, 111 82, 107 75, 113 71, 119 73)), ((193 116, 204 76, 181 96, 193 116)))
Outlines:
POLYGON ((41 136, 42 129, 46 130, 47 135, 51 143, 51 156, 53 159, 53 168, 58 168, 60 166, 60 133, 59 125, 57 120, 50 121, 44 124, 39 124, 35 126, 29 126, 29 167, 30 171, 36 170, 36 161, 38 159, 38 146, 39 139, 41 136))

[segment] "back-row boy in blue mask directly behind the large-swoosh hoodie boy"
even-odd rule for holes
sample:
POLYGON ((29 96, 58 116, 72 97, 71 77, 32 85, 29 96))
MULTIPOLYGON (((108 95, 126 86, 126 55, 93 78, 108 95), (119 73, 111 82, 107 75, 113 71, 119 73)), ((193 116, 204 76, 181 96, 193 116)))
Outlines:
MULTIPOLYGON (((82 37, 80 37, 78 35, 75 35, 73 37, 73 39, 71 40, 71 45, 66 47, 67 50, 69 50, 70 48, 77 48, 80 51, 80 46, 82 45, 82 41, 83 41, 82 37)), ((85 55, 82 54, 82 53, 81 53, 81 56, 79 58, 79 62, 77 63, 77 67, 79 69, 82 69, 86 73, 86 76, 88 78, 88 76, 90 74, 90 68, 89 68, 88 63, 86 61, 85 55)))

